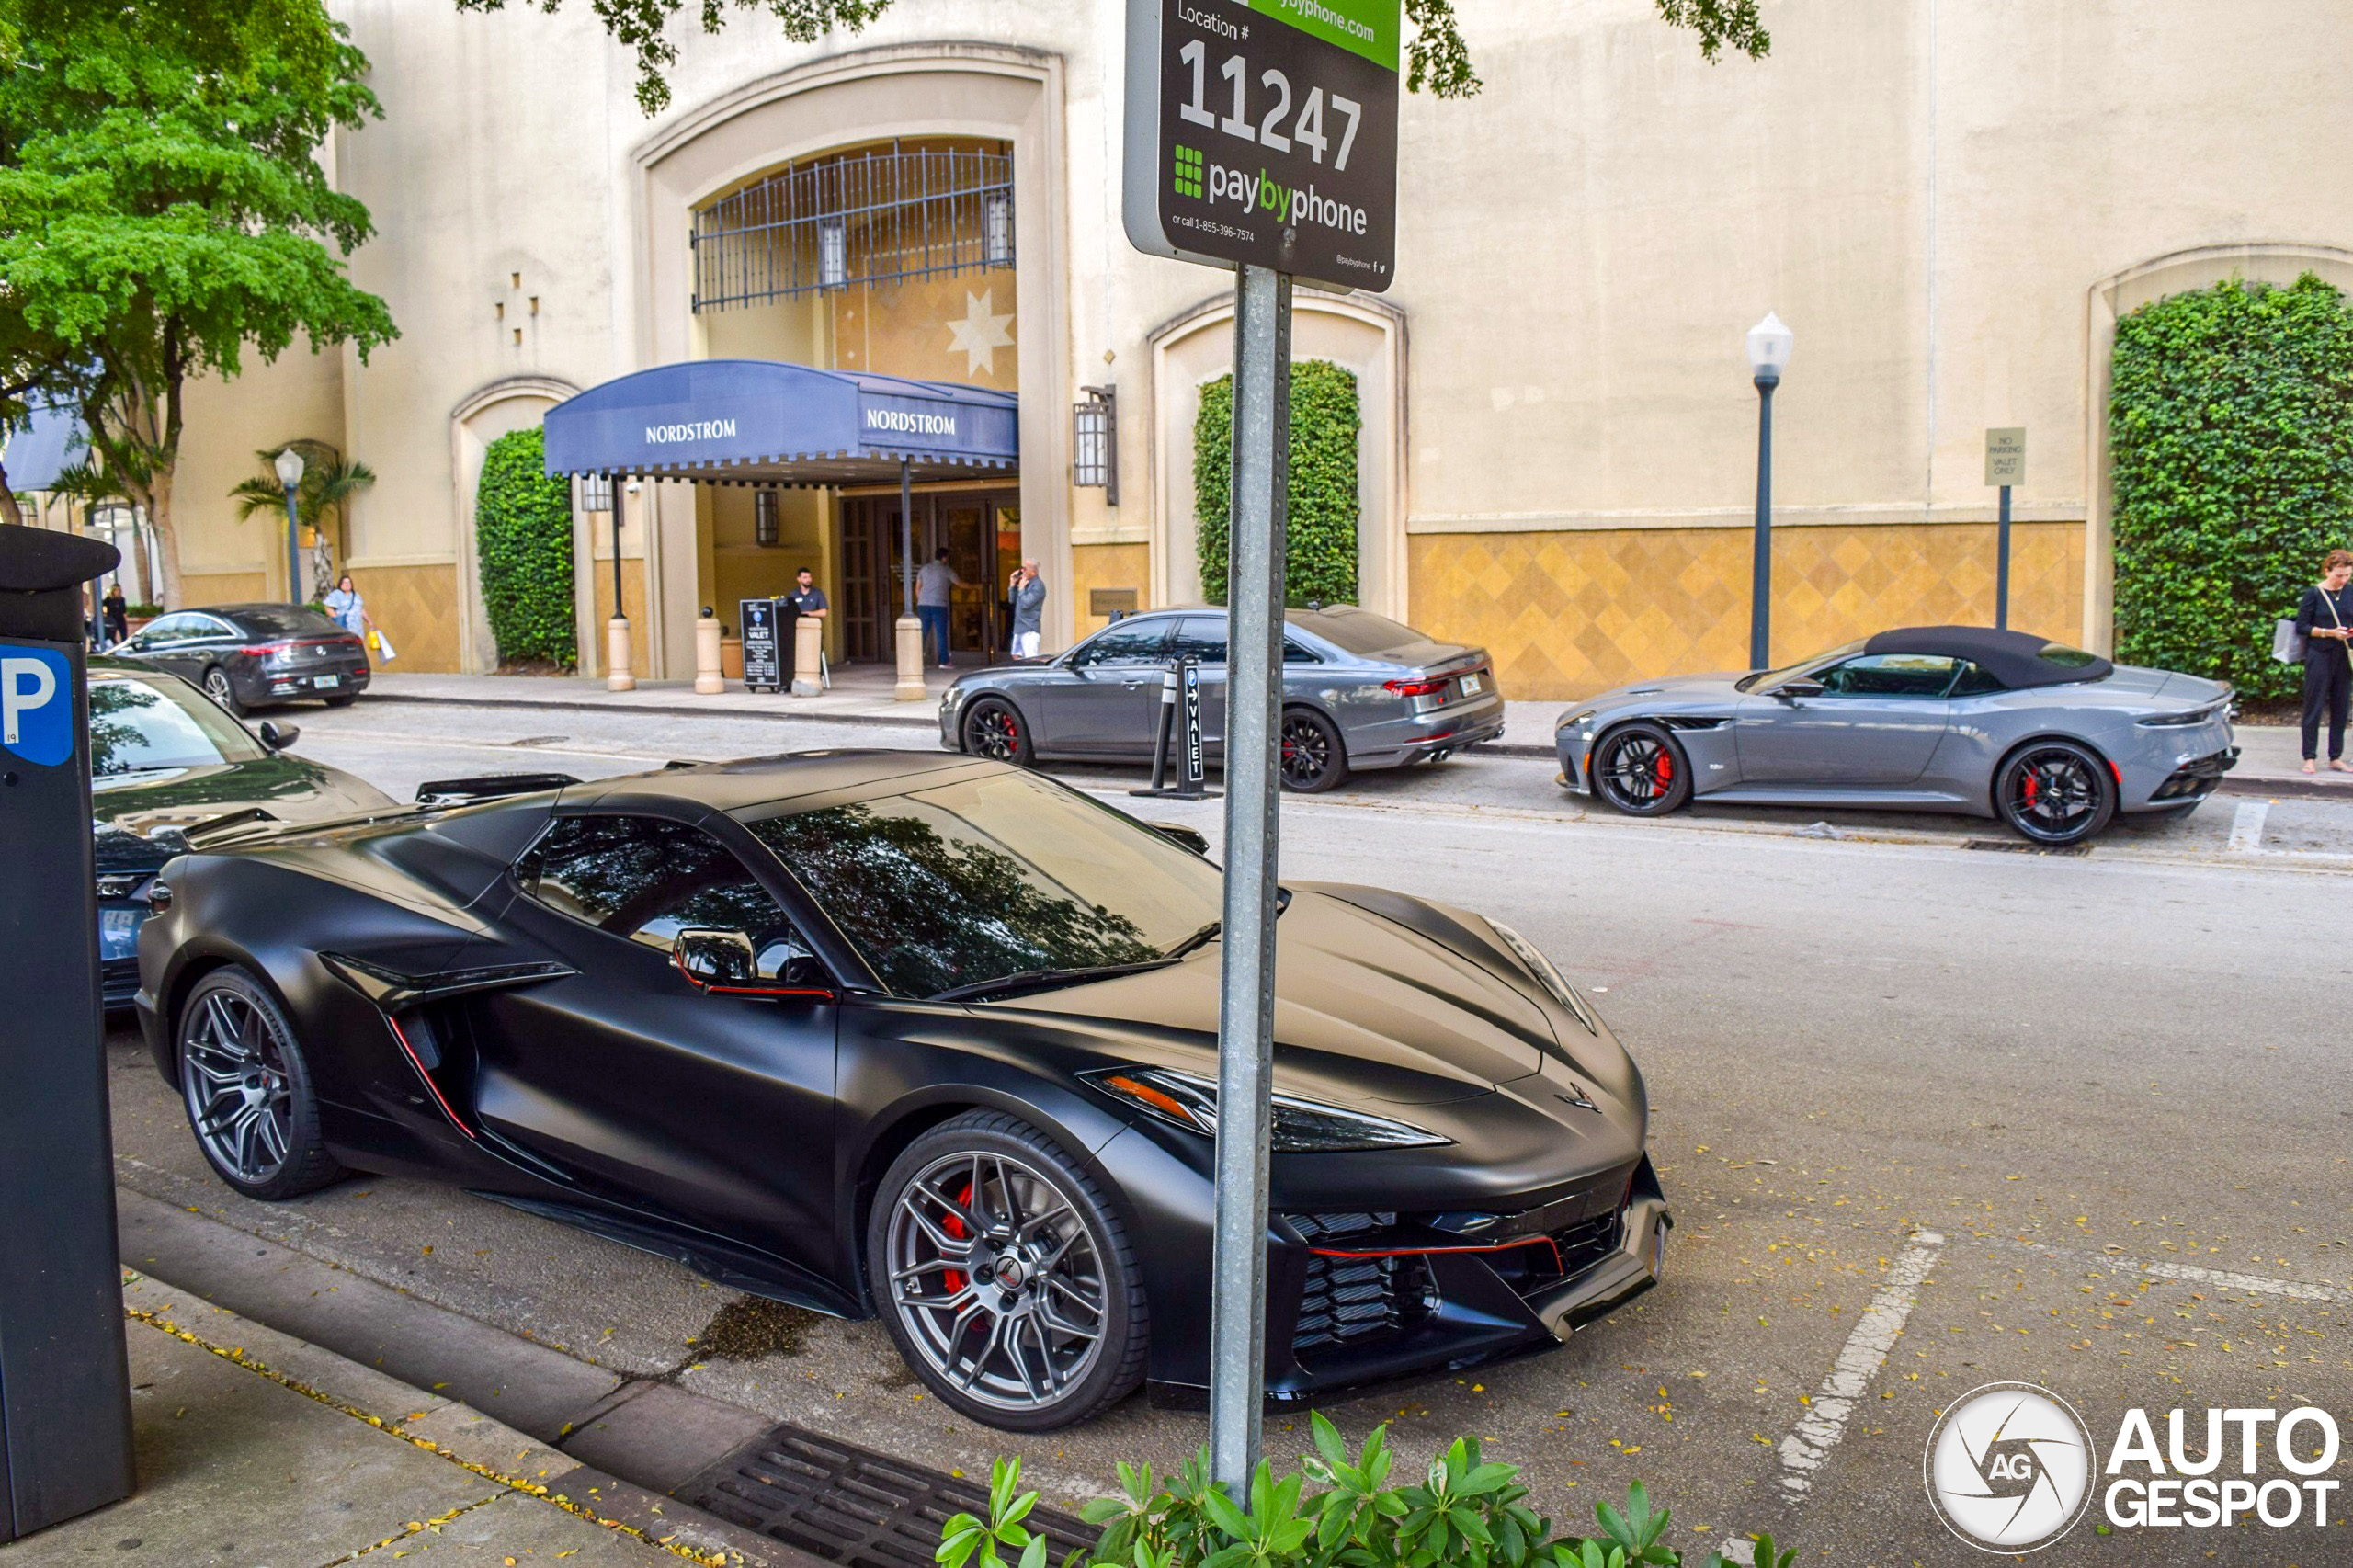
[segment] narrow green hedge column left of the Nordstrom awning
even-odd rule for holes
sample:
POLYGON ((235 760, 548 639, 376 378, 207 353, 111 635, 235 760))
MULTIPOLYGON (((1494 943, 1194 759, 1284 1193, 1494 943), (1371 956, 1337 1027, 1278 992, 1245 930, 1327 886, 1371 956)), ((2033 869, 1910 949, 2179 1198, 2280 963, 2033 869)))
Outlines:
POLYGON ((473 537, 499 662, 546 659, 576 666, 572 483, 546 476, 546 445, 536 424, 499 436, 482 454, 473 537))

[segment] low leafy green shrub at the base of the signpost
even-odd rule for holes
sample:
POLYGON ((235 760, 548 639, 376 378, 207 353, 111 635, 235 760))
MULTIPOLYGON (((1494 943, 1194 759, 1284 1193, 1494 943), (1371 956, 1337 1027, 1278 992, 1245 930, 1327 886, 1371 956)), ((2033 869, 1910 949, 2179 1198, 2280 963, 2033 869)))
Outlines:
MULTIPOLYGON (((1457 1439, 1414 1486, 1388 1486, 1388 1427, 1374 1429, 1355 1455, 1339 1431, 1315 1415, 1315 1453, 1297 1474, 1275 1476, 1261 1462, 1247 1507, 1209 1481, 1209 1455, 1186 1460, 1167 1488, 1151 1467, 1120 1464, 1118 1497, 1099 1497, 1080 1514, 1104 1530, 1092 1554, 1073 1552, 1064 1568, 1729 1568, 1720 1552, 1682 1556, 1666 1544, 1668 1509, 1652 1509, 1635 1481, 1626 1507, 1593 1509, 1598 1535, 1553 1535, 1553 1523, 1527 1507, 1518 1467, 1480 1460, 1478 1439, 1457 1439), (1315 1481, 1325 1490, 1308 1493, 1315 1481)), ((958 1514, 941 1526, 934 1559, 941 1568, 1045 1568, 1045 1537, 1021 1521, 1038 1493, 1019 1493, 1021 1460, 1000 1460, 988 1474, 988 1519, 958 1514)), ((1762 1568, 1791 1568, 1795 1552, 1755 1535, 1762 1568)))

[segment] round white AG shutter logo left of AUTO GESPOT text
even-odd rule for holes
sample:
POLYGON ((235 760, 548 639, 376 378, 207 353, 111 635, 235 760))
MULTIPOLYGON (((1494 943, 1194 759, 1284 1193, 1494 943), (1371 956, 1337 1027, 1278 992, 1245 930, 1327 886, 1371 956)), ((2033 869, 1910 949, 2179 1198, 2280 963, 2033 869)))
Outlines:
POLYGON ((2092 1500, 2092 1434, 2031 1382, 1965 1394, 1927 1434, 1927 1500, 1953 1535, 2024 1556, 2075 1528, 2092 1500))

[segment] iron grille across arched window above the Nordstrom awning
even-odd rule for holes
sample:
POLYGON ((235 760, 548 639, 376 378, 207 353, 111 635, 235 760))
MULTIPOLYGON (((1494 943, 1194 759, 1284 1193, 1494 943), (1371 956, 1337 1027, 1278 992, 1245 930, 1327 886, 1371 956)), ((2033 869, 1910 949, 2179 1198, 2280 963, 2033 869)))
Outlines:
POLYGON ((694 214, 694 311, 1014 266, 1014 158, 892 141, 791 162, 694 214))

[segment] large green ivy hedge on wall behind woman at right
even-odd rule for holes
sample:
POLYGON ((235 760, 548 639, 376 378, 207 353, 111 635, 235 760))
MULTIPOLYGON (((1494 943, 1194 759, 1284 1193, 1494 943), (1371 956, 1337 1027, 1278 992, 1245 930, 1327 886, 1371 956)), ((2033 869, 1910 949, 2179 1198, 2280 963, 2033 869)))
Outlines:
POLYGON ((2115 655, 2287 697, 2271 659, 2353 527, 2353 308, 2306 273, 2217 283, 2115 323, 2115 655))

